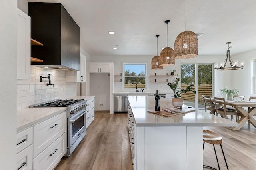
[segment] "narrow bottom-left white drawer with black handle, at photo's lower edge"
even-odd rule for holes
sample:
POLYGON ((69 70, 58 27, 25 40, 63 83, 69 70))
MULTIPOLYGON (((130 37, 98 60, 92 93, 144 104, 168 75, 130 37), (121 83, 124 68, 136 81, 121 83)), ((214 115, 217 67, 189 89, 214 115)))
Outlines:
POLYGON ((17 154, 17 170, 32 170, 33 146, 22 150, 17 154), (19 169, 20 168, 20 169, 19 169))

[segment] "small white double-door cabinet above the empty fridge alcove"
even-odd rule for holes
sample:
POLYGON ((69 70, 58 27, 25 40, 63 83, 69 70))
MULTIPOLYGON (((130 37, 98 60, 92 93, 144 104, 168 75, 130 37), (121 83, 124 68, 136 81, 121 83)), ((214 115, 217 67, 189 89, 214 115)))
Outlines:
POLYGON ((109 62, 90 62, 90 73, 110 73, 111 63, 109 62))

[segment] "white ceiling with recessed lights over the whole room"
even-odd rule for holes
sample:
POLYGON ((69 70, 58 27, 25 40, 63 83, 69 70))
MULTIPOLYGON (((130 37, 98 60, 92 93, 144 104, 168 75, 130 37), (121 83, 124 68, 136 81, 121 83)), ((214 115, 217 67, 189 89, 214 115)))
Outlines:
MULTIPOLYGON (((94 55, 158 55, 174 48, 185 31, 185 0, 28 0, 62 3, 80 26, 81 47, 94 55), (110 35, 108 31, 114 31, 110 35), (113 47, 117 46, 117 50, 113 47)), ((186 29, 203 33, 199 55, 231 55, 256 49, 256 0, 187 0, 186 29)))

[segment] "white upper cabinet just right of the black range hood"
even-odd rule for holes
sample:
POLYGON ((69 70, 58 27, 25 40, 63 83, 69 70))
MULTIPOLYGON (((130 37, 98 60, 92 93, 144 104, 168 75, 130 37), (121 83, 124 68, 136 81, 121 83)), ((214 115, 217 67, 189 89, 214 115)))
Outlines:
POLYGON ((66 71, 66 82, 86 81, 86 56, 80 53, 80 71, 66 71))

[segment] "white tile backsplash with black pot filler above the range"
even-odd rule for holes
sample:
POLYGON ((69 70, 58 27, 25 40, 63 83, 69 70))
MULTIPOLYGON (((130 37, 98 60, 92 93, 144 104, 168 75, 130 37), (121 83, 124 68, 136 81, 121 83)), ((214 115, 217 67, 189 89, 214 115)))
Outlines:
MULTIPOLYGON (((76 83, 66 83, 64 70, 50 70, 31 66, 30 80, 17 81, 17 110, 28 108, 30 105, 55 99, 76 96, 76 83), (40 76, 51 74, 53 86, 46 86, 47 82, 40 82, 40 76)), ((42 78, 48 80, 48 78, 42 78)))

